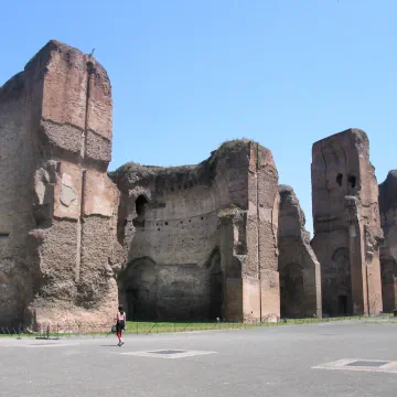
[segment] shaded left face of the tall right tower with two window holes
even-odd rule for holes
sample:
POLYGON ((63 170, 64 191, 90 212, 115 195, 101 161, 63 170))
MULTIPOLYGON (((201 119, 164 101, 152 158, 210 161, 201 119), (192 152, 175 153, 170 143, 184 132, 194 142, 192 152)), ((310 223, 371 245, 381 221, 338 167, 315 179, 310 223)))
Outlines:
POLYGON ((321 264, 323 313, 331 315, 353 312, 344 197, 357 194, 358 172, 357 154, 345 137, 325 139, 313 148, 312 246, 321 264))

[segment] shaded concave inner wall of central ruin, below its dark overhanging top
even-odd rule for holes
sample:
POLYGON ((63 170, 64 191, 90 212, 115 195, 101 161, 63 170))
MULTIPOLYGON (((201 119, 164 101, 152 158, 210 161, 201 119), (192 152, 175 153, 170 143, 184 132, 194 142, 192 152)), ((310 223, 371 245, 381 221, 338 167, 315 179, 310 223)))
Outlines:
POLYGON ((161 195, 149 189, 137 194, 128 205, 125 242, 129 265, 120 280, 129 318, 203 320, 219 315, 223 276, 221 256, 214 256, 218 246, 214 192, 196 185, 161 195), (141 197, 148 197, 144 208, 141 197))

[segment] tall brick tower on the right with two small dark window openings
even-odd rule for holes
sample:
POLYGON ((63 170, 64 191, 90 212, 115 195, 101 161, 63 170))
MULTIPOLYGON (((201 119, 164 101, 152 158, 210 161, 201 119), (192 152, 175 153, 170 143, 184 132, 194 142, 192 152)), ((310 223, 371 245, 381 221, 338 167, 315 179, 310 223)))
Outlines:
POLYGON ((379 313, 383 232, 368 138, 348 129, 315 142, 312 154, 312 247, 321 264, 323 313, 379 313))

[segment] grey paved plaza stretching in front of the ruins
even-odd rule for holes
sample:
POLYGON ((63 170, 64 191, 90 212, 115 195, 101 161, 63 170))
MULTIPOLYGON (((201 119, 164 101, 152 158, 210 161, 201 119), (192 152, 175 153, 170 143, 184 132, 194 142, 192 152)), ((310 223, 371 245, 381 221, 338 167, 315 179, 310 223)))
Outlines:
POLYGON ((340 322, 95 339, 0 339, 7 397, 397 395, 397 324, 340 322))

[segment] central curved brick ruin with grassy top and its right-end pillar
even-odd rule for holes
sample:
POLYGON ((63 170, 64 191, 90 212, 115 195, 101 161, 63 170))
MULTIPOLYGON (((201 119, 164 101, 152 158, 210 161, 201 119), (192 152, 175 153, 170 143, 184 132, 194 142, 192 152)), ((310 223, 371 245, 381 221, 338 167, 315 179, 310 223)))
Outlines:
POLYGON ((269 150, 223 144, 198 165, 112 174, 131 318, 279 318, 278 174, 269 150))

